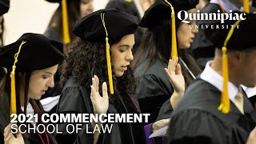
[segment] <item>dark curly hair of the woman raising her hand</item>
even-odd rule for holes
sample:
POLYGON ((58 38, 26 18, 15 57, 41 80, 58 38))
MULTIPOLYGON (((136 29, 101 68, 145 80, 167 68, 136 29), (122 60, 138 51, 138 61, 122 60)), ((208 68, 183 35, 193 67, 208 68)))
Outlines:
MULTIPOLYGON (((120 40, 121 38, 115 42, 110 41, 110 47, 112 44, 120 42, 120 40)), ((93 78, 94 75, 97 75, 100 83, 99 91, 102 92, 102 82, 109 82, 106 66, 105 46, 105 42, 87 42, 81 38, 76 38, 74 42, 71 42, 69 46, 71 51, 70 53, 66 54, 63 64, 62 85, 65 84, 68 79, 74 78, 75 82, 78 82, 80 86, 85 86, 89 89, 90 85, 92 84, 91 78, 93 78)), ((114 67, 112 66, 112 70, 113 68, 114 67)), ((121 91, 129 91, 130 93, 134 93, 135 78, 133 70, 130 68, 130 66, 128 66, 128 70, 122 77, 115 77, 114 70, 112 73, 114 95, 118 95, 121 91)))

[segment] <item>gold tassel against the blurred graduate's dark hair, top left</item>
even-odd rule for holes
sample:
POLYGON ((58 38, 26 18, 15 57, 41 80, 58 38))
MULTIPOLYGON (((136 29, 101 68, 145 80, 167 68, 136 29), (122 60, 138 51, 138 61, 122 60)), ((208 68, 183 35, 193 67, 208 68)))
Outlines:
POLYGON ((69 21, 66 8, 66 0, 62 0, 62 30, 64 44, 70 43, 69 21))

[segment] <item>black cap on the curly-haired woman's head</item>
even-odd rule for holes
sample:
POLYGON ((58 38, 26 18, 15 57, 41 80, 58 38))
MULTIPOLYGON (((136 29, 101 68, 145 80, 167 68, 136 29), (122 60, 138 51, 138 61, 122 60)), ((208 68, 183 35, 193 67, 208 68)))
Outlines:
POLYGON ((74 26, 73 33, 90 42, 105 42, 106 30, 102 25, 102 13, 105 13, 106 30, 111 42, 137 30, 138 18, 134 15, 115 9, 103 9, 80 18, 74 26))

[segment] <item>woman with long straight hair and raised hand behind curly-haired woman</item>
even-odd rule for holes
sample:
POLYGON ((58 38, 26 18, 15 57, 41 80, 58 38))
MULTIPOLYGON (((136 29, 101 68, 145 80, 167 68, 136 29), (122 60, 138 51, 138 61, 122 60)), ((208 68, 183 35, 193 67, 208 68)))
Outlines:
MULTIPOLYGON (((187 29, 185 30, 186 34, 179 33, 179 30, 182 31, 184 26, 188 27, 189 25, 181 22, 177 18, 177 14, 181 10, 194 13, 194 8, 198 1, 169 0, 168 2, 174 7, 176 14, 175 30, 177 33, 178 57, 187 86, 201 72, 194 58, 187 52, 192 42, 191 39, 197 33, 197 29, 187 29)), ((170 118, 170 111, 174 107, 171 105, 175 103, 173 99, 176 97, 177 90, 174 90, 174 87, 168 81, 166 71, 164 70, 168 65, 173 49, 171 41, 173 38, 172 32, 174 31, 171 30, 172 22, 174 21, 171 20, 170 6, 164 0, 159 0, 146 10, 139 24, 147 28, 147 30, 142 40, 142 45, 134 54, 134 61, 132 63, 134 75, 138 83, 135 96, 138 97, 142 113, 150 114, 149 122, 156 121, 159 110, 164 103, 166 109, 161 113, 161 118, 170 118)), ((194 22, 191 23, 194 25, 194 22)), ((180 95, 183 95, 183 93, 180 95)))

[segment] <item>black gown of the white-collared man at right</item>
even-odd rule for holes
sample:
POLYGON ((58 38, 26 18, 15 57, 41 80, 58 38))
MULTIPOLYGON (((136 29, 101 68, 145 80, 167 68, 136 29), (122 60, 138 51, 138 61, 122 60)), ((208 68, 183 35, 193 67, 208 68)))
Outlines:
POLYGON ((167 130, 168 144, 245 144, 256 125, 256 114, 243 93, 242 114, 233 102, 230 113, 218 110, 221 91, 198 78, 174 110, 167 130))

